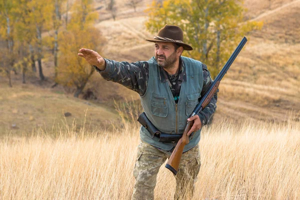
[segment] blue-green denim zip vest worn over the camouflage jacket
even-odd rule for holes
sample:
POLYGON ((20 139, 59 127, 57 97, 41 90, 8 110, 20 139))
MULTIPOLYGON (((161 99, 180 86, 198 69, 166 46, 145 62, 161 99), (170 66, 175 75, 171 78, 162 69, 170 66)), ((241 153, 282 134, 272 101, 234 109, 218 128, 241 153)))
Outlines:
MULTIPOLYGON (((164 133, 182 134, 186 119, 193 111, 201 96, 203 72, 200 61, 181 56, 185 67, 186 81, 182 81, 179 100, 175 104, 171 89, 167 82, 161 82, 159 66, 154 57, 149 59, 149 79, 147 90, 140 96, 141 105, 148 119, 164 133)), ((176 143, 159 142, 157 137, 151 138, 143 126, 140 127, 140 139, 163 150, 170 150, 176 143)), ((193 133, 183 152, 194 147, 200 140, 200 130, 193 133)))

